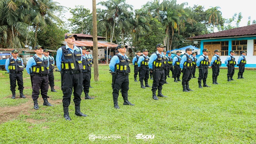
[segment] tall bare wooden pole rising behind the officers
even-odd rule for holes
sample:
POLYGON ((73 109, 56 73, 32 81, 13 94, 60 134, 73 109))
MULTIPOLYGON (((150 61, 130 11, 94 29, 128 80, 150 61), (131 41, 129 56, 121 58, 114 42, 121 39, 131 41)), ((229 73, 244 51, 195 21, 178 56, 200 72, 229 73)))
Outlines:
POLYGON ((99 81, 96 0, 92 0, 92 26, 94 81, 99 81))

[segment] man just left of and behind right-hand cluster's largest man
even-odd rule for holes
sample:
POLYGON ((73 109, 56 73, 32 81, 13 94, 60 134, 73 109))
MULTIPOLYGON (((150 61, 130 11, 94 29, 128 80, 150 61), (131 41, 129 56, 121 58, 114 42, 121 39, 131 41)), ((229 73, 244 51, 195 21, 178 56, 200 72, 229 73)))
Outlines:
POLYGON ((143 49, 142 51, 143 55, 140 56, 138 60, 138 67, 140 68, 140 87, 145 88, 145 87, 151 87, 148 85, 148 79, 149 79, 149 67, 148 67, 148 62, 149 62, 149 57, 148 57, 148 49, 143 49), (145 81, 145 86, 143 84, 143 80, 145 81))

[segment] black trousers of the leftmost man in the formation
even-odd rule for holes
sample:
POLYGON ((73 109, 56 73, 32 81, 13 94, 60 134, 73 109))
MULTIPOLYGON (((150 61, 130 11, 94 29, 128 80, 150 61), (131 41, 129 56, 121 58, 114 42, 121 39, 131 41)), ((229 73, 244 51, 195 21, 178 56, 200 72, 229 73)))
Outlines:
POLYGON ((16 81, 18 84, 18 90, 20 91, 20 93, 23 93, 23 73, 22 72, 18 72, 18 74, 16 73, 11 73, 11 77, 10 77, 10 90, 12 91, 12 94, 15 94, 15 88, 16 88, 16 81))

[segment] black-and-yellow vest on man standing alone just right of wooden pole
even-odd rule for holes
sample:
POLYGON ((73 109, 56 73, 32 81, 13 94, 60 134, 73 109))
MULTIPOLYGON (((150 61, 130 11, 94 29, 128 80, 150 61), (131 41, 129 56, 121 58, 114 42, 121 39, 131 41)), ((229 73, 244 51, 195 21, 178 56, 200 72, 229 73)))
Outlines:
POLYGON ((116 72, 122 72, 125 74, 128 74, 131 72, 131 69, 129 67, 130 59, 128 56, 123 58, 120 54, 116 54, 116 56, 119 58, 119 63, 116 63, 116 72))

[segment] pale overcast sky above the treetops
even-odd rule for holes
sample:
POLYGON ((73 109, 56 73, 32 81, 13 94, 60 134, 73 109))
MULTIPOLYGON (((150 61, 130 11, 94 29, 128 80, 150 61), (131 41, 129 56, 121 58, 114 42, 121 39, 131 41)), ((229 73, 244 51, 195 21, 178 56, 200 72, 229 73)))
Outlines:
MULTIPOLYGON (((92 11, 92 0, 53 0, 59 2, 60 5, 65 7, 75 8, 75 5, 84 5, 85 8, 90 9, 92 11)), ((96 0, 96 4, 100 1, 107 0, 96 0)), ((134 9, 140 9, 142 5, 146 4, 152 0, 126 0, 127 4, 133 5, 134 9)), ((162 0, 160 0, 160 3, 162 0)), ((181 4, 183 2, 188 2, 188 7, 193 7, 193 5, 202 5, 204 6, 204 11, 209 9, 210 6, 220 7, 220 11, 222 12, 222 17, 224 18, 232 18, 235 13, 242 12, 242 20, 240 22, 240 26, 246 26, 248 17, 251 16, 251 22, 253 19, 256 19, 255 14, 255 5, 256 1, 254 0, 177 0, 177 4, 181 4)), ((101 7, 100 5, 96 5, 97 8, 105 9, 105 7, 101 7)), ((65 14, 67 17, 70 17, 69 12, 65 14)))

